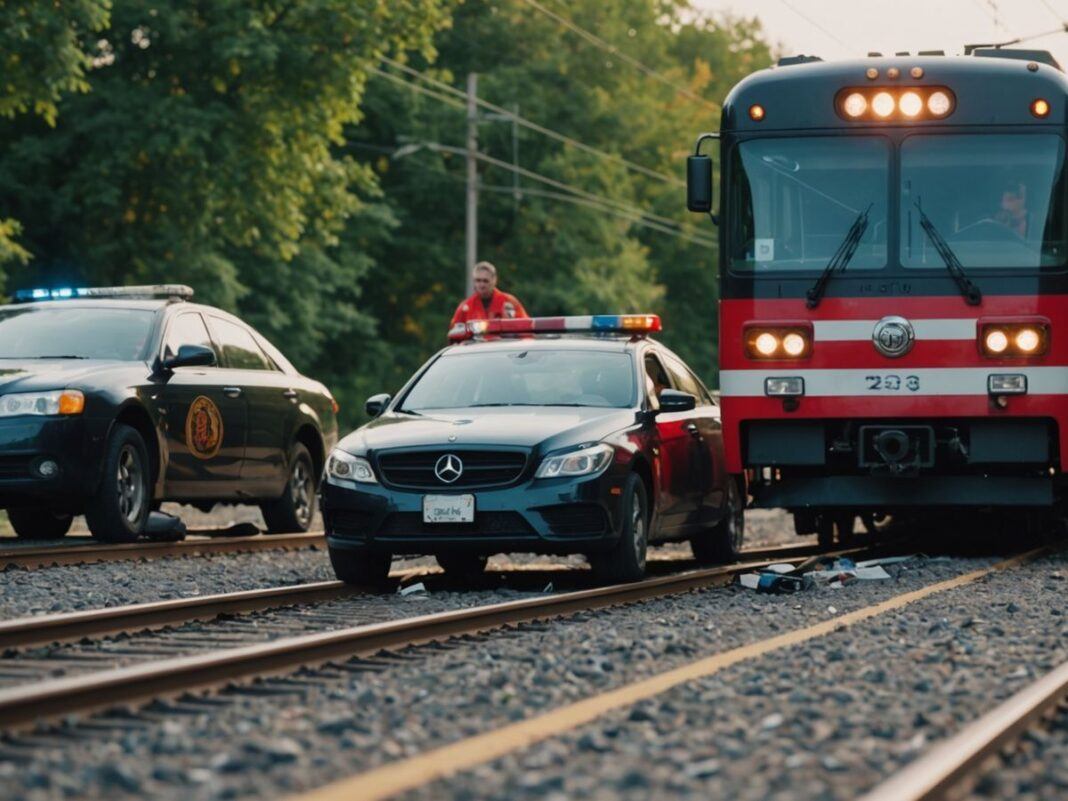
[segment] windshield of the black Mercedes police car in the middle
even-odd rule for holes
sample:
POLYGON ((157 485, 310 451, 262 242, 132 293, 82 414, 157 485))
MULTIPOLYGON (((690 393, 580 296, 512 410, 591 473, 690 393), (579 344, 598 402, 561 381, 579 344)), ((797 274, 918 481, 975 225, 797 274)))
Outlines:
POLYGON ((627 354, 600 350, 468 350, 435 361, 405 397, 402 411, 484 406, 634 404, 627 354))

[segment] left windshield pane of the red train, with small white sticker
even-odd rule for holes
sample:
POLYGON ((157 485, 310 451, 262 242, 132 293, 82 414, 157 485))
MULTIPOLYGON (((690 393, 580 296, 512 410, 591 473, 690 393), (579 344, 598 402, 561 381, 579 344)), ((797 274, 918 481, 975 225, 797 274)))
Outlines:
POLYGON ((733 154, 733 270, 818 271, 865 210, 868 224, 848 269, 886 264, 885 139, 757 139, 742 142, 733 154))

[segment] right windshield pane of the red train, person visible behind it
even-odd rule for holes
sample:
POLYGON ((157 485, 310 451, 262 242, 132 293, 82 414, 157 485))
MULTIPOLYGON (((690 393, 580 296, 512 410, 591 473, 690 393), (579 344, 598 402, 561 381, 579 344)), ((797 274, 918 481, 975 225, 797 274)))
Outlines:
POLYGON ((901 144, 901 264, 941 268, 920 209, 964 268, 1065 264, 1065 145, 1054 135, 912 136, 901 144))

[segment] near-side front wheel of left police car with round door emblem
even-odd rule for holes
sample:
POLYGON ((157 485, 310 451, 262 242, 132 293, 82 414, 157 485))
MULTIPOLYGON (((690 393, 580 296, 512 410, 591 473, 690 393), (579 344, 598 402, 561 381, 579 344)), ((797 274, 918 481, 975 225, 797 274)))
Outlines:
POLYGON ((85 522, 101 543, 132 543, 152 511, 148 450, 136 429, 119 423, 105 445, 96 491, 85 502, 85 522))

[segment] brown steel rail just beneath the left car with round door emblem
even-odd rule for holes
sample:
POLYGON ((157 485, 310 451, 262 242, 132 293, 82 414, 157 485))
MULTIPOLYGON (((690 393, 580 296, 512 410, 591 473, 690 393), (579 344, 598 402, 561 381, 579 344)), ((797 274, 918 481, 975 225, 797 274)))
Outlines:
MULTIPOLYGON (((195 533, 194 533, 195 535, 195 533)), ((163 556, 200 556, 208 553, 325 548, 321 532, 311 534, 258 534, 251 537, 201 537, 176 543, 115 543, 100 545, 16 547, 0 549, 0 566, 41 567, 88 565, 97 562, 128 562, 163 556)))

